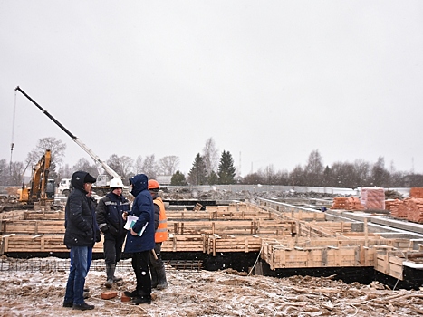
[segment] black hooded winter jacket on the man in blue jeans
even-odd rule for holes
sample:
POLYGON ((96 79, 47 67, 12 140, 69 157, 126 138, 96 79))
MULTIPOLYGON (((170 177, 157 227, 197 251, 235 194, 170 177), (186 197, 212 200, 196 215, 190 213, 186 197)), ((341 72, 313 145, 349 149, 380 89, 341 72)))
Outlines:
POLYGON ((64 244, 68 249, 72 246, 92 247, 100 241, 100 230, 95 219, 95 199, 87 197, 88 193, 83 188, 83 179, 87 174, 78 171, 72 175, 73 190, 64 209, 64 244))

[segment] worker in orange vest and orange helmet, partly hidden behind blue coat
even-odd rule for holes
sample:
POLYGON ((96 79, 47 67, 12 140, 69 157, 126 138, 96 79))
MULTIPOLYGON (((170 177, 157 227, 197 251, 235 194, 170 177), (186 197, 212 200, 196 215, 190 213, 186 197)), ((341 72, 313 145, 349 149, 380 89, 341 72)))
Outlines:
POLYGON ((149 193, 154 205, 154 224, 156 228, 154 253, 149 255, 149 267, 151 272, 151 288, 163 290, 168 287, 165 265, 161 259, 161 244, 168 240, 168 218, 163 200, 159 197, 159 182, 149 179, 149 193))

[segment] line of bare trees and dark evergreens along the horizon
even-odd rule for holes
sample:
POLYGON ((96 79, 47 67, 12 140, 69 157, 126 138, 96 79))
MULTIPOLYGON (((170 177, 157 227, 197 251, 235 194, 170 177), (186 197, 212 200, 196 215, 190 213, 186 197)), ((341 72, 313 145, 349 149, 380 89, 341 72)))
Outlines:
MULTIPOLYGON (((43 157, 46 149, 52 152, 52 164, 49 178, 59 181, 71 178, 75 170, 85 170, 97 177, 104 173, 99 164, 90 163, 88 159, 79 159, 70 167, 62 164, 66 144, 55 138, 39 139, 24 162, 9 162, 0 159, 0 185, 22 185, 24 174, 43 157)), ((154 154, 144 158, 131 159, 127 156, 112 154, 107 164, 123 179, 124 183, 138 173, 149 178, 160 175, 171 176, 171 185, 216 185, 216 184, 266 184, 284 186, 310 187, 423 187, 423 175, 395 170, 393 165, 385 167, 382 157, 375 163, 356 159, 354 162, 335 162, 324 166, 319 150, 312 150, 305 165, 297 165, 292 171, 275 170, 273 165, 260 168, 245 177, 240 177, 234 166, 234 159, 229 151, 223 150, 220 155, 214 139, 209 138, 202 152, 195 156, 187 175, 178 169, 179 158, 166 156, 156 159, 154 154)))

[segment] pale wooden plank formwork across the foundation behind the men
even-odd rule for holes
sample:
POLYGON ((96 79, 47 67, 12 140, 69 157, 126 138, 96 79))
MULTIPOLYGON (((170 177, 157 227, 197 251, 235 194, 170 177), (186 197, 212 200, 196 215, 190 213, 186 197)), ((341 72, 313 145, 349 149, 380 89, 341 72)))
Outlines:
MULTIPOLYGON (((0 254, 5 252, 68 252, 63 245, 63 211, 7 213, 0 218, 0 254)), ((419 256, 409 251, 409 239, 386 239, 351 231, 351 222, 322 221, 324 213, 274 210, 234 204, 206 211, 168 211, 169 238, 163 252, 260 252, 271 269, 336 266, 374 266, 402 278, 405 260, 419 256), (402 250, 402 251, 401 251, 402 250), (404 256, 404 255, 408 255, 404 256)), ((102 241, 93 252, 102 253, 102 241)), ((423 246, 422 246, 423 249, 423 246)), ((423 254, 423 250, 419 250, 423 254)), ((423 257, 423 255, 421 255, 423 257)))

